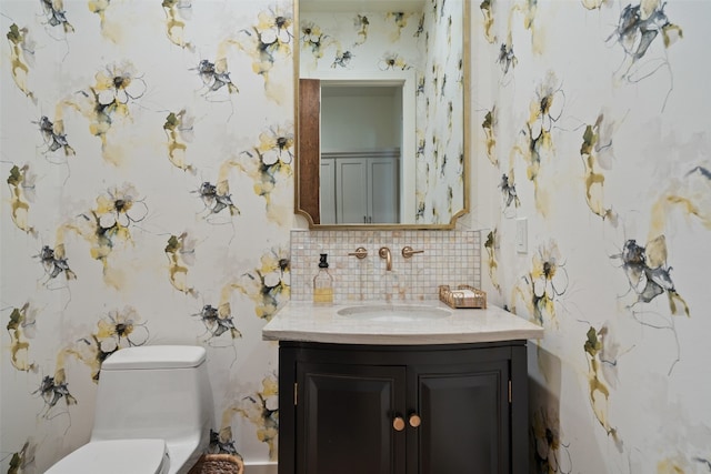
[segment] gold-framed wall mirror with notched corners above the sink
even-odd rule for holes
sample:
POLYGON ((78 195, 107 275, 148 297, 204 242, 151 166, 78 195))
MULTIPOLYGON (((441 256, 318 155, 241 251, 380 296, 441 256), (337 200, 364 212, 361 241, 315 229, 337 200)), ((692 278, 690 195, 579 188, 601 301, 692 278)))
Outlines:
POLYGON ((296 212, 452 229, 469 209, 469 2, 298 0, 296 212))

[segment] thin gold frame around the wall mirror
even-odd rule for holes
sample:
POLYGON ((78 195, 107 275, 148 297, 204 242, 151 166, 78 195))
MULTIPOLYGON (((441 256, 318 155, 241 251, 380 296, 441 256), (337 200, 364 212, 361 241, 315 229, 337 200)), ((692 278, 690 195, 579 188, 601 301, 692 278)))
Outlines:
MULTIPOLYGON (((462 143, 463 143, 463 206, 451 216, 447 224, 320 224, 316 223, 312 215, 319 215, 320 202, 320 163, 313 158, 302 162, 300 143, 300 114, 303 112, 300 104, 299 79, 301 73, 300 54, 301 54, 301 26, 299 22, 299 0, 293 0, 293 29, 294 29, 294 50, 293 50, 293 87, 294 87, 294 213, 302 215, 309 223, 309 229, 313 230, 450 230, 454 229, 457 220, 469 213, 469 174, 470 170, 470 75, 471 75, 471 50, 470 50, 470 2, 462 0, 462 100, 463 100, 463 118, 462 118, 462 143), (308 183, 308 184, 304 184, 308 183), (316 184, 316 185, 314 185, 316 184)), ((317 157, 318 159, 319 157, 317 157)))

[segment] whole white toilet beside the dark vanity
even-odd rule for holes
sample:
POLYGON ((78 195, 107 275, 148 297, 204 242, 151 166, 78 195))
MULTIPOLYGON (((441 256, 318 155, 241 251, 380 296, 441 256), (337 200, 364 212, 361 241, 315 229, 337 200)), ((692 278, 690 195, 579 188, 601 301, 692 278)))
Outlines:
POLYGON ((101 364, 89 443, 47 474, 187 473, 208 447, 212 404, 204 347, 121 349, 101 364))

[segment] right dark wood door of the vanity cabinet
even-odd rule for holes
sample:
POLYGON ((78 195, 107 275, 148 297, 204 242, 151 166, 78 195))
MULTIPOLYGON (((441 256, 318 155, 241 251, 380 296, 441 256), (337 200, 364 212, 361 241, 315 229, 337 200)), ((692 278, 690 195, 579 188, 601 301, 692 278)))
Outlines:
POLYGON ((412 372, 420 424, 408 446, 418 468, 408 472, 509 473, 509 361, 412 372))

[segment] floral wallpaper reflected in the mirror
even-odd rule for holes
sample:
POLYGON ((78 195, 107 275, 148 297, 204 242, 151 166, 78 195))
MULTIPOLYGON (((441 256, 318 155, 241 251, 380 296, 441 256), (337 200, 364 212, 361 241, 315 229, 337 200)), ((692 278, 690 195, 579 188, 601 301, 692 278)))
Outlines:
POLYGON ((304 11, 299 19, 304 74, 415 71, 415 215, 408 222, 447 224, 462 209, 462 16, 461 1, 425 0, 418 11, 304 11))

